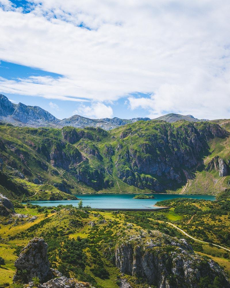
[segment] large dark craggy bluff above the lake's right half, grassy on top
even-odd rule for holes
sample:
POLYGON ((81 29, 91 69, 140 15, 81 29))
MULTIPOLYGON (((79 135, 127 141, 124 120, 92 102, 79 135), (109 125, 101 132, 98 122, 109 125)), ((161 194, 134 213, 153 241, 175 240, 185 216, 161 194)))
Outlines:
POLYGON ((210 123, 184 125, 181 121, 175 128, 165 122, 152 122, 148 126, 129 125, 122 130, 115 165, 118 177, 125 183, 156 192, 178 187, 183 183, 181 166, 189 170, 202 163, 200 155, 207 149, 207 141, 228 135, 219 125, 210 123), (128 147, 129 142, 136 144, 128 147), (163 178, 164 183, 160 182, 163 178))

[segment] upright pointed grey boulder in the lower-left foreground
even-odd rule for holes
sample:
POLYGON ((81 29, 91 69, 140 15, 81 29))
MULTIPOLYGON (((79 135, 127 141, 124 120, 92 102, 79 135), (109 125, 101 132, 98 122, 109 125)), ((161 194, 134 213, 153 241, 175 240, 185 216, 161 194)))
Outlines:
POLYGON ((35 276, 42 282, 51 275, 47 247, 48 245, 43 238, 30 240, 14 263, 16 267, 14 282, 22 281, 28 283, 35 276))

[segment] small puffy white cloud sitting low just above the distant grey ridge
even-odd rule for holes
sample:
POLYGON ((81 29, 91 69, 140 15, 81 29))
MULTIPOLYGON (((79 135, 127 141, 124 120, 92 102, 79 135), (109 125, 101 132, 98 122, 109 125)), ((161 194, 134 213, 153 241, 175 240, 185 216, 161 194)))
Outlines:
POLYGON ((110 106, 106 106, 103 103, 92 103, 91 106, 81 105, 77 110, 73 111, 73 114, 78 114, 87 118, 100 119, 100 118, 112 118, 113 109, 110 106))

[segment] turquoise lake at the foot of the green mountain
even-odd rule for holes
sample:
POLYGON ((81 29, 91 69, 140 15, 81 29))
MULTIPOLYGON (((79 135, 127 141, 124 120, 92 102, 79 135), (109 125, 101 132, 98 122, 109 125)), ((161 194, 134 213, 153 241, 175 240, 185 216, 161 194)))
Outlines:
MULTIPOLYGON (((212 195, 185 195, 185 194, 153 194, 155 199, 133 199, 136 194, 79 194, 75 195, 82 199, 83 206, 89 205, 91 208, 112 208, 112 209, 154 209, 157 201, 173 198, 193 198, 215 200, 212 195)), ((69 205, 78 206, 79 200, 59 200, 59 201, 31 201, 32 204, 40 206, 69 205)))

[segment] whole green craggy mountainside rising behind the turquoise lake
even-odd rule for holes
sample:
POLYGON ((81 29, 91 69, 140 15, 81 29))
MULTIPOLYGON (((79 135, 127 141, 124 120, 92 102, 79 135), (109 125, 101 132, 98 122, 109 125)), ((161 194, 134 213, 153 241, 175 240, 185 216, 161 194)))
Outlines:
POLYGON ((230 178, 229 139, 216 123, 184 120, 138 121, 110 131, 2 124, 0 158, 3 173, 24 185, 30 200, 81 192, 203 194, 208 178, 208 193, 217 194, 230 178))

